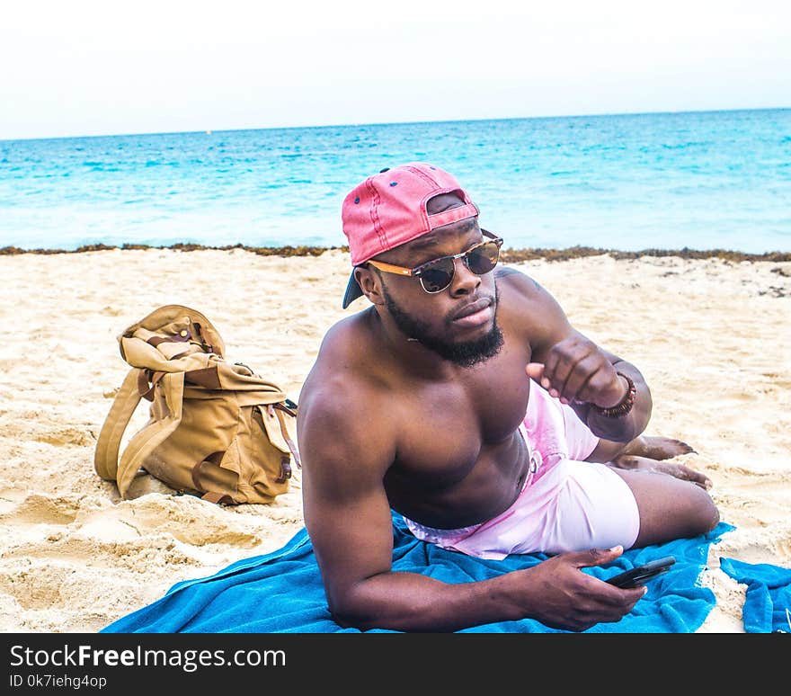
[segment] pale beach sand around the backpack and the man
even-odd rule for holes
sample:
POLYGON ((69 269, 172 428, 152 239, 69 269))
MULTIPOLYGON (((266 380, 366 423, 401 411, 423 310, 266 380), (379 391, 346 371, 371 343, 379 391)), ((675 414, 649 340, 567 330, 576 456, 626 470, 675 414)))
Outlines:
MULTIPOLYGON (((298 401, 341 308, 348 254, 242 250, 0 256, 0 629, 93 632, 174 583, 278 549, 302 527, 298 470, 271 505, 218 507, 156 479, 120 501, 93 447, 128 370, 116 336, 164 304, 202 311, 229 358, 298 401)), ((572 323, 643 371, 648 434, 689 442, 724 522, 701 632, 742 632, 743 585, 719 558, 791 566, 791 263, 608 255, 515 264, 572 323)), ((147 402, 144 402, 144 404, 147 402)), ((141 405, 128 436, 147 418, 141 405)))

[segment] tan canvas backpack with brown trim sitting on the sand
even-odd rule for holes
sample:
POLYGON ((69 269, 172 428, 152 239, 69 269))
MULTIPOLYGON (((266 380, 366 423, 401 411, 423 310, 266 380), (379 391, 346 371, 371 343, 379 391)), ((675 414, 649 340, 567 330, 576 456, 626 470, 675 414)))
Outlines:
POLYGON ((99 434, 93 465, 122 498, 144 469, 183 493, 222 504, 271 503, 299 466, 297 405, 242 363, 228 363, 209 319, 166 305, 118 337, 131 370, 99 434), (147 424, 120 443, 141 399, 147 424))

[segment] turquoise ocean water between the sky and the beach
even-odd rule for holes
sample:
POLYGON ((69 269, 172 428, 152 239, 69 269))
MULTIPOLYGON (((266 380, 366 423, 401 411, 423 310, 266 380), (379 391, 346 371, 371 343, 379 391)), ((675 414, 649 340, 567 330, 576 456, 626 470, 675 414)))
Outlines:
POLYGON ((506 246, 791 251, 791 110, 0 140, 0 247, 345 244, 345 193, 456 174, 506 246))

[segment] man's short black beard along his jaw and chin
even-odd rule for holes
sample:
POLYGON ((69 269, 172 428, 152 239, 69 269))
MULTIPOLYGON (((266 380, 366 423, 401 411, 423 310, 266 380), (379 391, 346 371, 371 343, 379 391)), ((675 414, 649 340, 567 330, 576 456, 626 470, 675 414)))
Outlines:
MULTIPOLYGON (((429 350, 436 352, 440 358, 453 362, 459 367, 469 368, 479 362, 493 358, 502 348, 503 338, 500 326, 497 326, 496 301, 497 290, 494 291, 495 313, 492 330, 480 338, 462 343, 450 343, 441 336, 431 335, 429 325, 418 319, 410 317, 396 301, 390 297, 387 290, 382 288, 382 297, 385 307, 396 322, 396 326, 411 340, 418 341, 429 350)), ((449 323, 449 322, 448 322, 449 323)))

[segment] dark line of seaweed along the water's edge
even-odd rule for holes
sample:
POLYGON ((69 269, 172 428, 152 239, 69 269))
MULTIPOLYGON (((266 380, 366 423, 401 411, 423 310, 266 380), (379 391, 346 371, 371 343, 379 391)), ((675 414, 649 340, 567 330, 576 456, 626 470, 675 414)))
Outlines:
MULTIPOLYGON (((109 251, 111 249, 131 250, 131 249, 173 249, 174 251, 191 252, 207 249, 217 251, 233 251, 241 249, 260 256, 320 256, 326 251, 340 250, 348 252, 348 246, 247 246, 247 245, 227 245, 227 246, 206 246, 200 244, 173 244, 173 245, 144 245, 144 244, 124 244, 124 245, 104 245, 93 244, 78 246, 76 249, 20 249, 18 246, 0 247, 0 256, 13 256, 17 254, 81 254, 84 252, 109 251)), ((567 261, 569 259, 582 258, 584 256, 600 256, 609 254, 616 259, 636 259, 641 256, 678 256, 683 259, 710 259, 718 258, 725 261, 791 261, 791 253, 787 252, 765 252, 764 254, 746 254, 744 252, 731 251, 729 249, 643 249, 642 251, 627 252, 618 249, 602 249, 592 246, 571 246, 565 249, 503 249, 501 260, 503 263, 519 263, 520 261, 533 261, 543 259, 546 261, 567 261)))

